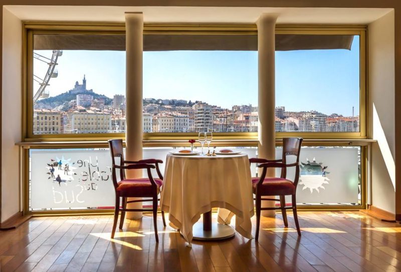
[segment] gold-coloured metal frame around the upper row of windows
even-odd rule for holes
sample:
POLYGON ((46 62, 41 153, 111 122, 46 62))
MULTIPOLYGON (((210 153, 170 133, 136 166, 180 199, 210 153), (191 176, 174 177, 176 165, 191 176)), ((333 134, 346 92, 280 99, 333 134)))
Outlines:
MULTIPOLYGON (((33 132, 33 35, 125 35, 124 24, 95 24, 69 22, 24 22, 23 34, 23 139, 25 141, 80 141, 125 138, 125 133, 34 134, 33 132)), ((276 138, 303 137, 305 139, 366 139, 367 86, 366 86, 366 26, 331 25, 277 25, 276 34, 358 35, 359 38, 359 132, 276 132, 276 138)), ((144 35, 257 35, 256 25, 216 24, 145 24, 144 35)), ((144 141, 184 140, 197 133, 144 132, 144 141)), ((257 132, 215 132, 219 140, 257 140, 257 132)))

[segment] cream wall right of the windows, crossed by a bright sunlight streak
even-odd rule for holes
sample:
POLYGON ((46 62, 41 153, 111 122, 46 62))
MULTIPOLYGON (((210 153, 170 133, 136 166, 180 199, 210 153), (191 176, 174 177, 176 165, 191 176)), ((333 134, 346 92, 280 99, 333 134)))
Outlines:
POLYGON ((368 26, 372 205, 395 213, 394 11, 368 26))

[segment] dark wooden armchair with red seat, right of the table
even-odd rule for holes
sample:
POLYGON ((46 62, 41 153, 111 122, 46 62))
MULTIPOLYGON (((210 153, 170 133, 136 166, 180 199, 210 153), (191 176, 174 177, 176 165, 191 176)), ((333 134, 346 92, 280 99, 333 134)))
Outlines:
POLYGON ((284 225, 288 227, 287 209, 292 209, 294 213, 295 225, 298 235, 301 236, 297 215, 296 191, 299 180, 299 152, 301 151, 302 138, 283 138, 283 158, 279 160, 267 160, 262 158, 251 158, 250 163, 261 163, 258 167, 263 168, 260 177, 252 178, 253 192, 256 195, 256 235, 259 238, 260 213, 261 210, 281 210, 283 214, 284 225), (296 162, 287 164, 287 156, 296 156, 296 162), (287 179, 287 167, 295 167, 294 181, 287 179), (266 177, 268 168, 281 168, 281 176, 266 177), (276 196, 280 198, 262 198, 263 196, 276 196), (292 196, 291 206, 286 206, 285 196, 292 196), (262 208, 262 200, 280 201, 280 207, 262 208))

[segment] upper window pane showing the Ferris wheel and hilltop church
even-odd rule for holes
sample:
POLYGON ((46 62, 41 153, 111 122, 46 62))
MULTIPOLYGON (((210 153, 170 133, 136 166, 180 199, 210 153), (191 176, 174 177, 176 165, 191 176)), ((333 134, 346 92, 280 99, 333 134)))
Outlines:
POLYGON ((125 37, 33 35, 33 135, 125 132, 125 37))

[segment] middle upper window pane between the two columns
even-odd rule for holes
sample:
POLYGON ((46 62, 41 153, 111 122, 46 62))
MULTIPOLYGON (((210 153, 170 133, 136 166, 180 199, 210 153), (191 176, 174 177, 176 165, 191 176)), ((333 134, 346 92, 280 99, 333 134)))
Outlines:
POLYGON ((145 35, 144 51, 144 132, 258 131, 256 35, 145 35))

